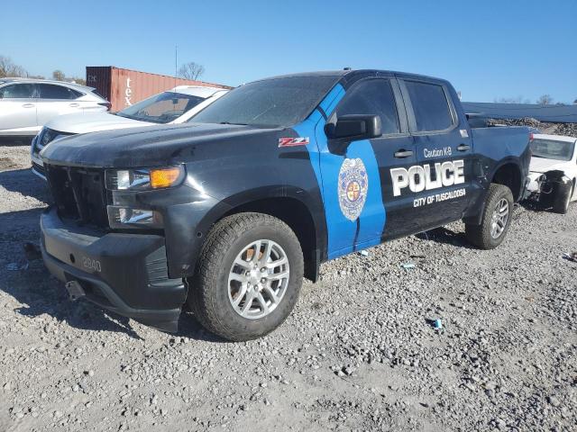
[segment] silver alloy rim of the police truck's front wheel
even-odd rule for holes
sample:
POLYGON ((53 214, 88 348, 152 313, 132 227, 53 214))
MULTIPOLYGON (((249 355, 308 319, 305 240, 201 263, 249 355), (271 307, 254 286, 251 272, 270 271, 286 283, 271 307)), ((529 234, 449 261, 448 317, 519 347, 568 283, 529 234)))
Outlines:
POLYGON ((255 240, 234 258, 228 275, 228 300, 243 318, 265 317, 282 301, 289 276, 284 249, 272 240, 255 240))

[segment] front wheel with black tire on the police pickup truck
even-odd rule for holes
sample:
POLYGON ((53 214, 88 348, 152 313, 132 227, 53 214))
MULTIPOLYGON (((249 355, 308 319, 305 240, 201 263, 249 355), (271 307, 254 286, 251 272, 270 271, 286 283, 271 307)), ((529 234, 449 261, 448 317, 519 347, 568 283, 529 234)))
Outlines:
POLYGON ((286 223, 261 213, 234 214, 218 221, 206 236, 196 274, 188 281, 188 306, 204 328, 222 338, 260 338, 289 316, 298 300, 303 272, 298 238, 286 223), (258 249, 261 252, 256 254, 256 242, 260 240, 264 240, 258 249), (265 268, 261 266, 269 250, 267 245, 270 261, 281 262, 284 254, 287 263, 259 274, 265 268), (236 264, 239 262, 242 266, 236 264), (253 268, 254 264, 260 268, 253 268), (280 279, 280 275, 288 275, 288 279, 280 279), (261 284, 265 279, 267 283, 261 284), (270 289, 272 293, 277 290, 278 302, 272 302, 270 289), (252 300, 253 294, 257 297, 252 300), (246 306, 249 299, 251 303, 246 306), (268 309, 261 300, 270 302, 268 309))

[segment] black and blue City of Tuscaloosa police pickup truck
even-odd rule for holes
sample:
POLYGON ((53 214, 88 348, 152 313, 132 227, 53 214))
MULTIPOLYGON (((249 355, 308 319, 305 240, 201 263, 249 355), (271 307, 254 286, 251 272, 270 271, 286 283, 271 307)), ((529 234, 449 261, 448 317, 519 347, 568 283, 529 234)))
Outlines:
POLYGON ((499 246, 528 144, 525 128, 472 129, 441 79, 263 79, 185 125, 44 148, 42 255, 73 299, 166 331, 188 303, 215 334, 258 338, 326 260, 453 220, 473 245, 499 246))

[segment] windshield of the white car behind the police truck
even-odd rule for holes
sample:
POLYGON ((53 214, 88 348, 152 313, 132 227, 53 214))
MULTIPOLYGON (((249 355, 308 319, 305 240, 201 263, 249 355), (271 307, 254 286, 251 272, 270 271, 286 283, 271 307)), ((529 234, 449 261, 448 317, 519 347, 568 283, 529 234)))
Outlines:
POLYGON ((116 112, 116 115, 133 120, 168 123, 176 120, 204 100, 204 97, 193 96, 192 94, 163 92, 135 103, 123 111, 116 112))

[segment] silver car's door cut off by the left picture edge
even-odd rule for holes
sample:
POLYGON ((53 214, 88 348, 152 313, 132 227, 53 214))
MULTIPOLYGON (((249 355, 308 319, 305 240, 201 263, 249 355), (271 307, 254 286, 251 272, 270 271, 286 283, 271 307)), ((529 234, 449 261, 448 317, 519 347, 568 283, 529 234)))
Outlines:
POLYGON ((36 121, 35 87, 32 83, 9 84, 0 88, 0 133, 35 135, 39 129, 36 121))

